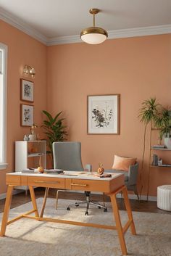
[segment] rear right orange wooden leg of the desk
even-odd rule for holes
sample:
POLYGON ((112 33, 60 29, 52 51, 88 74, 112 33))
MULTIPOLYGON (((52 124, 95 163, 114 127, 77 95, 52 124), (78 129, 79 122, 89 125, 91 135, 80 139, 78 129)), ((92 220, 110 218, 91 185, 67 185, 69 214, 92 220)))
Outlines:
POLYGON ((136 234, 135 224, 133 222, 133 214, 132 214, 132 210, 131 210, 131 207, 130 207, 130 200, 128 198, 128 191, 127 191, 126 186, 122 190, 122 194, 123 194, 123 198, 124 198, 124 202, 125 202, 125 207, 126 207, 126 210, 127 210, 127 213, 128 213, 128 219, 131 221, 130 230, 131 230, 131 233, 133 235, 135 235, 136 234))

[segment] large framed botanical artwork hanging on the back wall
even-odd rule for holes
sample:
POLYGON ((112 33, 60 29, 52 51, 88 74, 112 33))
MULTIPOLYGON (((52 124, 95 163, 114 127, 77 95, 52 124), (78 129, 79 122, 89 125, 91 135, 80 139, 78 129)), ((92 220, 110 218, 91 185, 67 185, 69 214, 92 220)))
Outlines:
POLYGON ((88 134, 119 134, 120 95, 88 95, 88 134))

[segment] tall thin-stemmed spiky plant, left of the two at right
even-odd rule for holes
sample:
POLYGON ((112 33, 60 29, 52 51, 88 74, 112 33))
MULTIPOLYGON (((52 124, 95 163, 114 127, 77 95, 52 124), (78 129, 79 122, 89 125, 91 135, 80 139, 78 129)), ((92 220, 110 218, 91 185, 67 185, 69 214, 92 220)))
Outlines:
MULTIPOLYGON (((140 179, 141 179, 141 191, 143 189, 142 185, 142 171, 143 171, 143 163, 144 163, 144 154, 146 150, 146 128, 147 125, 154 125, 154 127, 157 126, 157 122, 159 122, 159 110, 160 110, 161 105, 157 102, 157 99, 150 98, 146 99, 142 103, 141 110, 139 112, 138 118, 142 123, 145 124, 144 127, 144 133, 143 133, 143 154, 142 154, 142 165, 141 165, 141 174, 140 174, 140 179)), ((141 192, 140 192, 141 195, 141 192)))

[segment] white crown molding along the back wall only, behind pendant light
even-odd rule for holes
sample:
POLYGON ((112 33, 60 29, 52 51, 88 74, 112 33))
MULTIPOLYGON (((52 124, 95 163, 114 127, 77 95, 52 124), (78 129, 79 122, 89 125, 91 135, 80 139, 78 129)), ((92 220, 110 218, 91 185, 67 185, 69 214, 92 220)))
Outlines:
MULTIPOLYGON (((127 28, 120 30, 109 30, 108 39, 116 38, 129 38, 136 36, 154 36, 171 33, 171 25, 160 25, 160 26, 151 26, 151 27, 142 27, 142 28, 127 28)), ((57 44, 74 44, 74 43, 83 43, 80 36, 61 36, 49 38, 47 41, 48 46, 53 46, 57 44)))

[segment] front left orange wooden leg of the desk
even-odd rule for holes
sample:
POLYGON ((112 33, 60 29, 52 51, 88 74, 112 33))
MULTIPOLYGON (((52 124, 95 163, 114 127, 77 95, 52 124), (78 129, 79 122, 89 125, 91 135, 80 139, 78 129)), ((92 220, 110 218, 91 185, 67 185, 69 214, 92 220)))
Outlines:
POLYGON ((7 228, 7 221, 8 221, 8 217, 9 217, 9 209, 11 206, 11 202, 12 202, 12 191, 14 189, 14 186, 8 186, 7 189, 7 197, 6 197, 6 201, 5 201, 5 207, 4 207, 4 215, 2 218, 2 222, 1 222, 1 233, 0 236, 4 236, 5 235, 5 231, 7 228))

